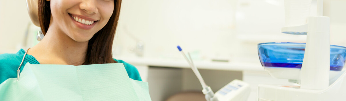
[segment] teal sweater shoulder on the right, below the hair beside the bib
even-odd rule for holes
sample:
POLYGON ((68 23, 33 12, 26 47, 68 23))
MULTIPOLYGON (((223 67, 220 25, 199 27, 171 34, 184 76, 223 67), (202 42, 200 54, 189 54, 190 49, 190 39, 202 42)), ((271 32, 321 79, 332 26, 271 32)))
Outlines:
POLYGON ((137 70, 137 68, 125 61, 122 61, 120 59, 115 59, 113 58, 117 63, 123 63, 124 67, 126 69, 127 74, 129 75, 129 77, 133 80, 138 80, 138 81, 142 81, 142 79, 140 78, 139 72, 137 70))

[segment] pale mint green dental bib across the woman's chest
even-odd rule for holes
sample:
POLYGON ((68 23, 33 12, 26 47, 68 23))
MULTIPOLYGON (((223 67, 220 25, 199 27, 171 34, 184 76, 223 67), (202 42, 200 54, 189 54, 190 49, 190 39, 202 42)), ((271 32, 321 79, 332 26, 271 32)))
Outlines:
POLYGON ((151 101, 148 83, 130 79, 122 63, 27 63, 0 84, 0 101, 151 101))

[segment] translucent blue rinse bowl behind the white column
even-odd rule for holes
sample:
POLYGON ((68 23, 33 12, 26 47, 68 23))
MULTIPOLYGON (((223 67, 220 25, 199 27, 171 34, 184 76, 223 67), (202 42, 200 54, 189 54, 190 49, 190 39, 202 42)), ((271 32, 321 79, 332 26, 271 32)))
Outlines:
MULTIPOLYGON (((301 68, 305 43, 261 43, 258 56, 264 67, 301 68)), ((345 64, 346 47, 330 45, 330 70, 341 71, 345 64)))

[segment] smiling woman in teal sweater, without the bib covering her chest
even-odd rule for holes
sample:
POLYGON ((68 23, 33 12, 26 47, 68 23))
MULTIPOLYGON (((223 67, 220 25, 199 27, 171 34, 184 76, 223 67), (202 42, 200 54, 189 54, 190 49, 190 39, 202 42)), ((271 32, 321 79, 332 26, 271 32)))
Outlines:
POLYGON ((38 0, 36 4, 44 38, 27 51, 0 54, 0 84, 19 78, 26 63, 74 66, 122 63, 131 79, 142 81, 136 67, 112 58, 121 0, 38 0))

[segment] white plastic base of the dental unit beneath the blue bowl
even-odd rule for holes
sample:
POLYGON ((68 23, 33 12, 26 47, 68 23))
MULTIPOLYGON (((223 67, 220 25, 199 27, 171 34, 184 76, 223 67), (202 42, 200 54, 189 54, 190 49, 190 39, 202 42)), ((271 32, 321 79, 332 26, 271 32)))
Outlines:
POLYGON ((323 90, 300 89, 299 86, 258 85, 257 101, 346 101, 346 72, 323 90))

